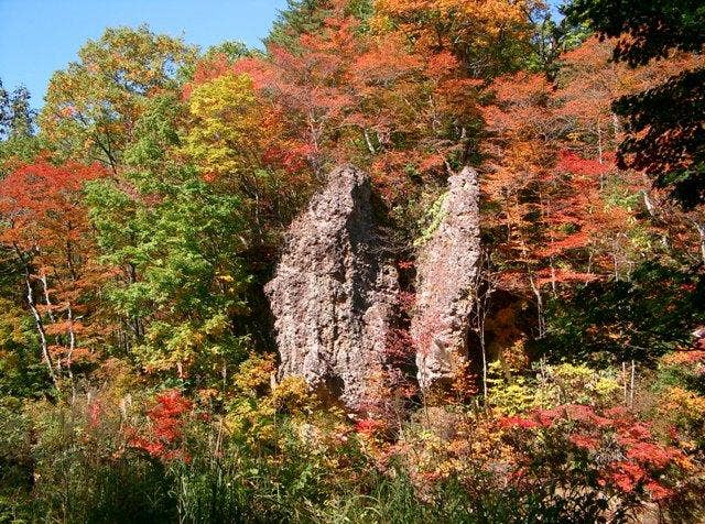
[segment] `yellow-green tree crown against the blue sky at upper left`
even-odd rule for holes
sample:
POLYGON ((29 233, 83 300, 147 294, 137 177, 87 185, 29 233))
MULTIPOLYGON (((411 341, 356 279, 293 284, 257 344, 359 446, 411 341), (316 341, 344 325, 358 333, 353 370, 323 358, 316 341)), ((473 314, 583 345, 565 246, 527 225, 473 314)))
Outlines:
POLYGON ((194 50, 147 26, 108 29, 79 52, 79 62, 50 80, 40 116, 43 135, 63 155, 98 161, 117 173, 147 97, 174 91, 194 50))

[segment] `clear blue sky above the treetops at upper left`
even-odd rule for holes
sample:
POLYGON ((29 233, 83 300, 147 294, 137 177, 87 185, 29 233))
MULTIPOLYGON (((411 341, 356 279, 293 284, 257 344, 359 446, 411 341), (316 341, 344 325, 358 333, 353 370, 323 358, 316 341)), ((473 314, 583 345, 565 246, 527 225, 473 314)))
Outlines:
POLYGON ((0 78, 24 84, 42 106, 56 69, 76 59, 88 39, 116 25, 152 31, 208 47, 225 40, 260 45, 285 0, 0 0, 0 78))

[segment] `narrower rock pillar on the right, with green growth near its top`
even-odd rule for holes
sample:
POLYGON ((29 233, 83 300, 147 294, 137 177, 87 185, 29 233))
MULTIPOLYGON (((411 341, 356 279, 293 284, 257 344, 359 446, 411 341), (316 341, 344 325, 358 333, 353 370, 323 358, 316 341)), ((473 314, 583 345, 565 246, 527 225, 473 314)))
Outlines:
POLYGON ((465 167, 448 179, 441 221, 416 261, 416 345, 419 384, 443 387, 467 358, 473 287, 480 256, 477 172, 465 167))

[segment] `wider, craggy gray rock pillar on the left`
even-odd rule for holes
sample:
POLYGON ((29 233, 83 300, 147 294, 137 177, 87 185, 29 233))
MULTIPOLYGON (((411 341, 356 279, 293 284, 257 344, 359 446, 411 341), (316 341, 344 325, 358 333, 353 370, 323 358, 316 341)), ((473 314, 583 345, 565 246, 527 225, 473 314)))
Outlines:
POLYGON ((365 404, 398 301, 395 268, 375 250, 369 177, 354 167, 291 225, 264 291, 274 315, 280 376, 297 374, 348 407, 365 404))

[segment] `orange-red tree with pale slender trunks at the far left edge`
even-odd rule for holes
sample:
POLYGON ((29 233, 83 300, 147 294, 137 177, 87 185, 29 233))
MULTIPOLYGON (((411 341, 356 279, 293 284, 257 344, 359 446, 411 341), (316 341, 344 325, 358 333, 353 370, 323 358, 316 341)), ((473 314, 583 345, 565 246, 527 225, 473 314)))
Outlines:
POLYGON ((0 242, 22 271, 26 306, 55 385, 74 360, 87 357, 88 328, 101 272, 83 206, 83 185, 105 176, 98 165, 45 161, 25 165, 0 181, 0 242))

